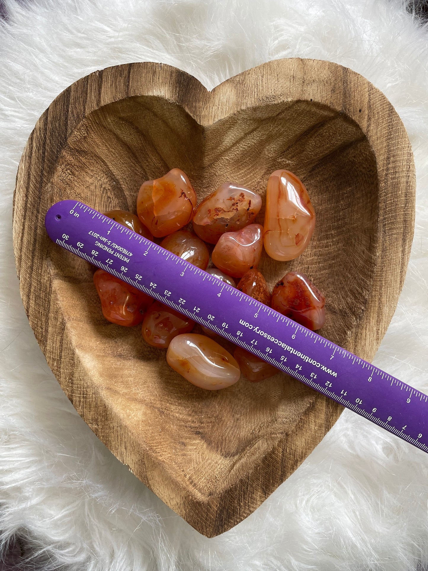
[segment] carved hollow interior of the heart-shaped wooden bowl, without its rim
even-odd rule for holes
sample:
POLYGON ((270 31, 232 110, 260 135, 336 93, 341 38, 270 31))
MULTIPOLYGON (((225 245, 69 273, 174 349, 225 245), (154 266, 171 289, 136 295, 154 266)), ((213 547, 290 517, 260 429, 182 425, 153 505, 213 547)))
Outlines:
MULTIPOLYGON (((286 263, 263 254, 259 269, 270 288, 288 271, 308 275, 326 296, 321 335, 346 347, 371 295, 377 240, 377 170, 357 124, 332 108, 297 100, 201 126, 163 98, 130 97, 79 124, 58 159, 50 198, 78 199, 101 212, 135 212, 140 184, 173 167, 186 172, 198 200, 226 181, 264 198, 278 168, 302 179, 317 216, 309 247, 286 263)), ((263 218, 262 209, 257 222, 263 218)), ((144 451, 201 498, 243 475, 253 452, 272 450, 322 398, 282 373, 263 383, 241 379, 219 392, 193 387, 168 367, 164 351, 144 343, 139 327, 104 320, 88 264, 54 244, 48 263, 92 389, 144 451), (172 451, 167 456, 165 441, 172 451)))

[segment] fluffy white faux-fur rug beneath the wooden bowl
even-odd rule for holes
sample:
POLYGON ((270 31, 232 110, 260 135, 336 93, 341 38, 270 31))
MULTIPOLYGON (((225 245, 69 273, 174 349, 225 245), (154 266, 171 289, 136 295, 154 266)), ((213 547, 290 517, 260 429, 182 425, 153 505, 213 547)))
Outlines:
MULTIPOLYGON (((1 2, 0 2, 1 3, 1 2)), ((159 61, 208 89, 274 58, 329 59, 394 104, 418 198, 409 271, 375 364, 428 391, 428 29, 399 0, 6 0, 0 24, 0 532, 41 569, 422 571, 428 456, 348 411, 251 517, 207 540, 96 439, 27 323, 11 246, 19 157, 76 79, 159 61)))

